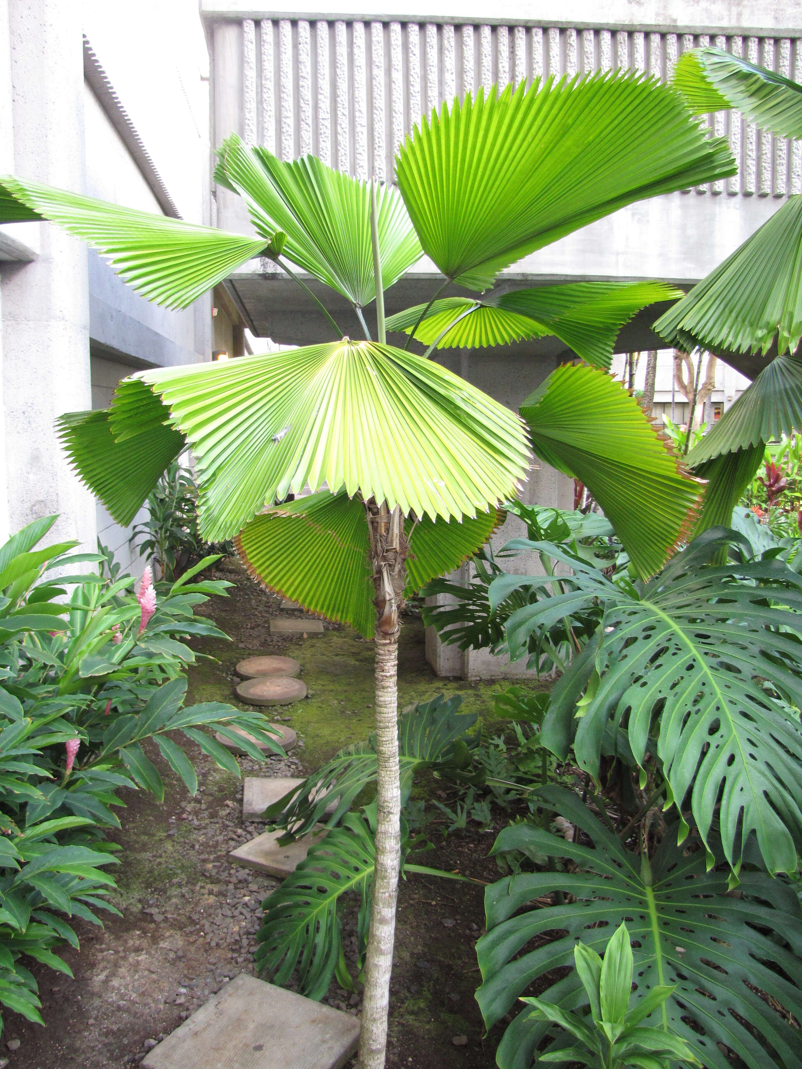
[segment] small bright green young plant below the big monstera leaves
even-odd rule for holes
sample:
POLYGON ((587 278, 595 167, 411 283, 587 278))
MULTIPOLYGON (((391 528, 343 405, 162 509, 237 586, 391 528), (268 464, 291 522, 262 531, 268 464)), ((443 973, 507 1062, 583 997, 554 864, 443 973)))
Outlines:
POLYGON ((680 1036, 665 1028, 661 1011, 674 985, 651 989, 629 1009, 632 992, 632 947, 627 925, 617 929, 604 958, 584 943, 573 951, 576 973, 590 1002, 592 1026, 581 1013, 560 1009, 543 998, 522 998, 535 1007, 536 1016, 558 1025, 576 1040, 571 1047, 551 1048, 539 1062, 581 1062, 591 1069, 669 1069, 673 1063, 700 1066, 680 1036), (654 1014, 662 1027, 642 1024, 654 1014))

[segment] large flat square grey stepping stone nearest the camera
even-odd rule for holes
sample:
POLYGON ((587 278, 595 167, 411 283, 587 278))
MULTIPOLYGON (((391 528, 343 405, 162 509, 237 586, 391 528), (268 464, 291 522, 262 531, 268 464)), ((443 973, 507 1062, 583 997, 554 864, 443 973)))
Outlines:
POLYGON ((150 1051, 143 1069, 341 1069, 359 1020, 241 973, 150 1051))

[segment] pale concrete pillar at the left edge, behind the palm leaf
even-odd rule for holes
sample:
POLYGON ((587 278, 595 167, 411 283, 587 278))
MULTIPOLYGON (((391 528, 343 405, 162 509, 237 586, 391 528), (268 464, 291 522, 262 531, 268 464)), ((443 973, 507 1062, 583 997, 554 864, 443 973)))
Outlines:
MULTIPOLYGON (((7 0, 16 172, 84 188, 80 4, 7 0)), ((3 60, 0 60, 2 62, 3 60)), ((60 513, 50 541, 93 549, 95 502, 56 437, 64 412, 92 407, 86 246, 40 223, 30 263, 2 266, 2 390, 9 525, 60 513)))

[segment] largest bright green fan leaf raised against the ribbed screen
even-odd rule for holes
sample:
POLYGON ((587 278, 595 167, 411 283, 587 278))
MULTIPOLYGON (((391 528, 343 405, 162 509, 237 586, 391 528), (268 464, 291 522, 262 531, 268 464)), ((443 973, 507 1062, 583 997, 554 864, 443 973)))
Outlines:
POLYGON ((423 251, 474 290, 624 204, 735 173, 679 93, 597 74, 500 97, 467 96, 421 120, 396 162, 423 251), (637 144, 637 151, 632 145, 637 144))

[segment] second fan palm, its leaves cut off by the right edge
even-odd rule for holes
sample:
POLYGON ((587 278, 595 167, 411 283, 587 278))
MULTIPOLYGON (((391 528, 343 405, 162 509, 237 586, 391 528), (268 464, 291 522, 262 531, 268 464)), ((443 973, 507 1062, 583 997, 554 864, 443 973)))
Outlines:
MULTIPOLYGON (((679 60, 675 84, 696 113, 738 108, 764 129, 802 138, 802 86, 720 48, 679 60)), ((670 344, 725 360, 771 357, 752 385, 691 450, 709 480, 696 533, 728 526, 766 443, 802 430, 802 197, 788 201, 654 324, 670 344)))

